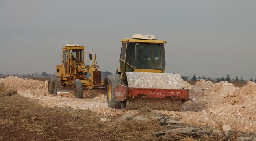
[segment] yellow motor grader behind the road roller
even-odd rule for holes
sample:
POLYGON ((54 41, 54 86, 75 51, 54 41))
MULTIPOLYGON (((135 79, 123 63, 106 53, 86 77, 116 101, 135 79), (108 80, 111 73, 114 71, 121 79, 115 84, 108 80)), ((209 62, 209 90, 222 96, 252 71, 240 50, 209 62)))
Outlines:
MULTIPOLYGON (((96 54, 92 65, 85 65, 84 46, 66 44, 62 47, 61 65, 56 65, 56 78, 49 78, 49 94, 74 92, 75 98, 83 98, 83 89, 104 88, 101 72, 95 65, 96 54)), ((89 60, 92 60, 89 54, 89 60)))

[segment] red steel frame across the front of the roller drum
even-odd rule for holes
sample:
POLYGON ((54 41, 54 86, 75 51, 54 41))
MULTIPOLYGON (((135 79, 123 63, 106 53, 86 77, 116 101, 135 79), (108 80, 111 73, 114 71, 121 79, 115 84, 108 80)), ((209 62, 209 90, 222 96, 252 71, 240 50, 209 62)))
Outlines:
POLYGON ((118 85, 115 89, 115 100, 124 101, 129 98, 189 98, 189 89, 159 89, 159 88, 132 88, 124 85, 118 85))

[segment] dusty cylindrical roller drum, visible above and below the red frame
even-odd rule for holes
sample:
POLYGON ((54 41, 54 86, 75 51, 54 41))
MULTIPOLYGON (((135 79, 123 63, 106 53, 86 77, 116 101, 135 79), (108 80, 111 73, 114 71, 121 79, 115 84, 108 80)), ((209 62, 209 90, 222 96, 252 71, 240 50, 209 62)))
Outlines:
MULTIPOLYGON (((133 88, 183 89, 182 78, 179 74, 124 72, 121 83, 133 88)), ((181 99, 172 98, 129 98, 122 102, 123 110, 180 110, 181 99)))

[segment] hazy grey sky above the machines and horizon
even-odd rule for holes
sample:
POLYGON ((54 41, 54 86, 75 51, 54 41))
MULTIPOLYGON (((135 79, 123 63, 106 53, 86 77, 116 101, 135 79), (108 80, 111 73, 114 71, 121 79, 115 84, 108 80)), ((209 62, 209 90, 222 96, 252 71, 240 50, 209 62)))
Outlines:
POLYGON ((0 72, 54 74, 67 43, 115 72, 132 34, 167 41, 165 73, 256 77, 255 0, 0 0, 0 72))

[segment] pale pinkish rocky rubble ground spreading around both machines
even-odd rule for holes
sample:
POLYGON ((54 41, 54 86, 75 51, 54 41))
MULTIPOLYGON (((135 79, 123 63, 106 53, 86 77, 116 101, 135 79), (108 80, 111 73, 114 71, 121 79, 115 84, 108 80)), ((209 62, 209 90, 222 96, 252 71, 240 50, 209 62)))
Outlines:
MULTIPOLYGON (((17 89, 19 95, 37 99, 37 103, 44 107, 72 107, 73 109, 91 110, 97 114, 102 122, 113 122, 117 117, 122 119, 122 116, 127 113, 137 114, 138 112, 135 110, 123 112, 122 110, 108 108, 104 90, 85 91, 83 99, 75 99, 72 94, 49 95, 47 81, 42 82, 17 77, 7 77, 2 81, 6 87, 17 89)), ((186 126, 178 126, 178 128, 184 128, 184 130, 192 132, 196 131, 195 136, 199 132, 198 128, 201 127, 209 128, 209 132, 216 128, 222 128, 226 136, 231 136, 232 132, 230 130, 239 130, 243 133, 256 131, 256 83, 249 81, 247 85, 240 89, 228 82, 213 84, 211 81, 201 80, 195 85, 189 85, 186 81, 183 81, 183 83, 184 87, 190 90, 189 101, 183 103, 180 111, 154 111, 156 114, 154 118, 161 117, 157 119, 160 125, 166 125, 167 121, 176 119, 174 121, 186 124, 186 126), (193 129, 187 124, 193 125, 193 129), (197 126, 199 127, 197 128, 197 126)), ((128 117, 125 120, 133 121, 134 118, 128 117)), ((176 126, 175 124, 174 126, 176 126)), ((159 133, 154 136, 174 132, 172 126, 161 127, 161 130, 158 130, 159 133), (164 133, 161 133, 162 131, 164 133)), ((213 132, 210 135, 212 134, 213 132)), ((251 137, 252 140, 252 135, 243 134, 241 136, 251 137)))

